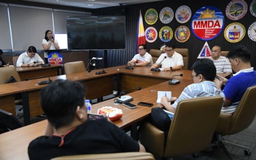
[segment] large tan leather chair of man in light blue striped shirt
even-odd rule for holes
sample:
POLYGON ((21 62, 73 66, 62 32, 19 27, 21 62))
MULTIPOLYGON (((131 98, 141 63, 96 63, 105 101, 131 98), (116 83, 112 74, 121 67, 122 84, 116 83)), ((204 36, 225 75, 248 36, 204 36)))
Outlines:
POLYGON ((202 151, 213 137, 223 97, 181 100, 175 111, 167 138, 150 122, 139 128, 139 140, 156 158, 174 158, 202 151))

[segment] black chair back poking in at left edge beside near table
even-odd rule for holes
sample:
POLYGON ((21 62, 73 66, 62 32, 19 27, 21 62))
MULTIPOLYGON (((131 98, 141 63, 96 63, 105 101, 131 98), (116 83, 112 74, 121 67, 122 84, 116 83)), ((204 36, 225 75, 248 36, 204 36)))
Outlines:
POLYGON ((12 113, 0 109, 0 134, 20 127, 22 124, 12 113))

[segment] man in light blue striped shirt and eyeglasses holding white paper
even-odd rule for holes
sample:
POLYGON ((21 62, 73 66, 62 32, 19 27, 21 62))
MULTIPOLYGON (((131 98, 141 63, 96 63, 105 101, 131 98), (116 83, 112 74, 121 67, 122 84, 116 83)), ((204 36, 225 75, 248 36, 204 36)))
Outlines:
POLYGON ((221 96, 223 97, 223 103, 225 102, 225 95, 217 88, 214 82, 216 67, 212 60, 208 58, 199 59, 192 65, 191 70, 191 79, 194 83, 187 86, 178 99, 176 97, 168 99, 166 96, 161 98, 161 103, 166 110, 175 113, 178 102, 188 98, 221 96), (169 102, 175 103, 171 105, 169 102))

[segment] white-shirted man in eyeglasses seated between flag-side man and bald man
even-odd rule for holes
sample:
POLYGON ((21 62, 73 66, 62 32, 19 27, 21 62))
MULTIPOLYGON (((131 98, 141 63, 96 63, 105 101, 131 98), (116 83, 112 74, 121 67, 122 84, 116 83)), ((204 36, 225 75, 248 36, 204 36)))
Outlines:
POLYGON ((165 52, 157 59, 157 62, 151 68, 158 68, 162 65, 163 71, 181 70, 184 66, 183 57, 175 52, 175 45, 166 44, 165 52))

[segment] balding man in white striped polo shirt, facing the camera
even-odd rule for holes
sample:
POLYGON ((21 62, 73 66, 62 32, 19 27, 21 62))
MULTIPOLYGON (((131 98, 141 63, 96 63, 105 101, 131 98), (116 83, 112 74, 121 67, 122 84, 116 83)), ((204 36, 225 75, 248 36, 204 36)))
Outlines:
POLYGON ((217 73, 232 73, 231 65, 228 58, 223 57, 220 46, 214 46, 211 50, 211 56, 217 73))

